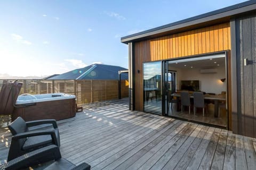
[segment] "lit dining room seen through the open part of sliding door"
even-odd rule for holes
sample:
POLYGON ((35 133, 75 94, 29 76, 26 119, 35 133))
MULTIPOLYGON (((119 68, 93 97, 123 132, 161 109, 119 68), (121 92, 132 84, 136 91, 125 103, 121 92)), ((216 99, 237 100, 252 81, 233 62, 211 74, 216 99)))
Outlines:
POLYGON ((227 128, 226 55, 167 62, 166 114, 227 128))

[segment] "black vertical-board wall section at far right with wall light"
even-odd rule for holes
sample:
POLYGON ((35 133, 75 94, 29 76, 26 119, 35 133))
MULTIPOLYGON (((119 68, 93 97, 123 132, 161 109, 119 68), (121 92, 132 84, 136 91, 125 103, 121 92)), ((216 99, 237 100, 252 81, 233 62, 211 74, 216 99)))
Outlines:
MULTIPOLYGON (((253 14, 243 16, 235 20, 237 59, 237 133, 254 138, 256 137, 256 84, 254 80, 255 64, 252 64, 252 61, 255 61, 255 18, 256 15, 253 14), (245 58, 250 61, 248 65, 244 65, 245 58)), ((234 47, 232 47, 232 49, 233 48, 234 47)), ((235 105, 235 103, 233 103, 233 105, 235 105)))

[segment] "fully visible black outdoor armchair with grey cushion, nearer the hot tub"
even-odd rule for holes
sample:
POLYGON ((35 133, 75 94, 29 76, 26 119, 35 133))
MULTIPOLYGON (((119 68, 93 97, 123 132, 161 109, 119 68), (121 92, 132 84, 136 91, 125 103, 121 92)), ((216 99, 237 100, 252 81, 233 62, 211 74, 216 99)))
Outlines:
POLYGON ((7 158, 8 162, 44 146, 56 145, 60 147, 60 134, 55 120, 25 122, 21 117, 18 117, 8 128, 13 135, 7 158), (30 130, 31 127, 42 124, 52 124, 53 128, 46 130, 30 130))

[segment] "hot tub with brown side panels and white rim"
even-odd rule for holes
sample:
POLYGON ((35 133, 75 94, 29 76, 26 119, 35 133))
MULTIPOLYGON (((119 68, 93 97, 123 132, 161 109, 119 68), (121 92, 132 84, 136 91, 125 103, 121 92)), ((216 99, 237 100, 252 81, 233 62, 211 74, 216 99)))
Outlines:
POLYGON ((16 101, 12 121, 18 116, 25 121, 54 118, 62 120, 76 115, 76 96, 68 94, 22 94, 16 101))

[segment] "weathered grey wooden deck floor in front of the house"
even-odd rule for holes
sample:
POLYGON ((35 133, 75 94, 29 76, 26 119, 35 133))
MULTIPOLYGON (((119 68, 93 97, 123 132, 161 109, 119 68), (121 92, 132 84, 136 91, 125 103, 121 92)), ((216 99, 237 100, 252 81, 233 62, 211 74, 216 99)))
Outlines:
MULTIPOLYGON (((92 169, 255 169, 256 139, 173 118, 131 112, 128 100, 84 105, 58 121, 62 157, 92 169)), ((0 161, 11 134, 0 128, 0 161)))

